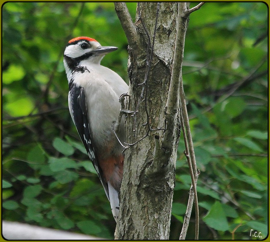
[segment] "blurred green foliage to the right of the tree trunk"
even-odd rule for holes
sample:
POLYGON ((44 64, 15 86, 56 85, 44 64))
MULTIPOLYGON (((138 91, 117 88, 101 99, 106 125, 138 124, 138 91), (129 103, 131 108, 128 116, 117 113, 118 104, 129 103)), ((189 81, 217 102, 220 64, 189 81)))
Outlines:
MULTIPOLYGON (((256 44, 266 33, 264 3, 205 3, 190 16, 183 81, 201 171, 202 239, 252 239, 250 229, 267 235, 267 38, 256 44)), ((187 172, 184 149, 180 138, 178 173, 187 172)), ((177 176, 174 201, 186 204, 189 187, 177 176)))

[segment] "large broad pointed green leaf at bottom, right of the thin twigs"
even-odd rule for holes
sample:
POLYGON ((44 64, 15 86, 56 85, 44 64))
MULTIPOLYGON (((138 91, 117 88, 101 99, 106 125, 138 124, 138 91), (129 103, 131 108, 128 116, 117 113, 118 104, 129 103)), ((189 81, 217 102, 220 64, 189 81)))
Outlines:
POLYGON ((219 231, 227 231, 229 229, 226 215, 223 211, 221 203, 218 201, 214 203, 207 215, 202 218, 202 220, 213 229, 219 231))

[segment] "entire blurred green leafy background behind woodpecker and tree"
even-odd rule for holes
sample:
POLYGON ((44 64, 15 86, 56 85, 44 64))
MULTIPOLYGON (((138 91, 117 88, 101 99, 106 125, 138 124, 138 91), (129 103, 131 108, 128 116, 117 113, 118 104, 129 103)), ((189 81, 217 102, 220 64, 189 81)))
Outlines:
MULTIPOLYGON (((134 20, 136 3, 127 6, 134 20)), ((2 6, 2 218, 113 239, 109 202, 67 108, 62 55, 78 36, 119 47, 102 64, 128 83, 113 3, 2 6)), ((208 2, 190 16, 183 81, 201 171, 199 239, 267 235, 267 36, 262 2, 208 2)), ((191 184, 183 150, 181 136, 170 239, 179 238, 191 184)))

